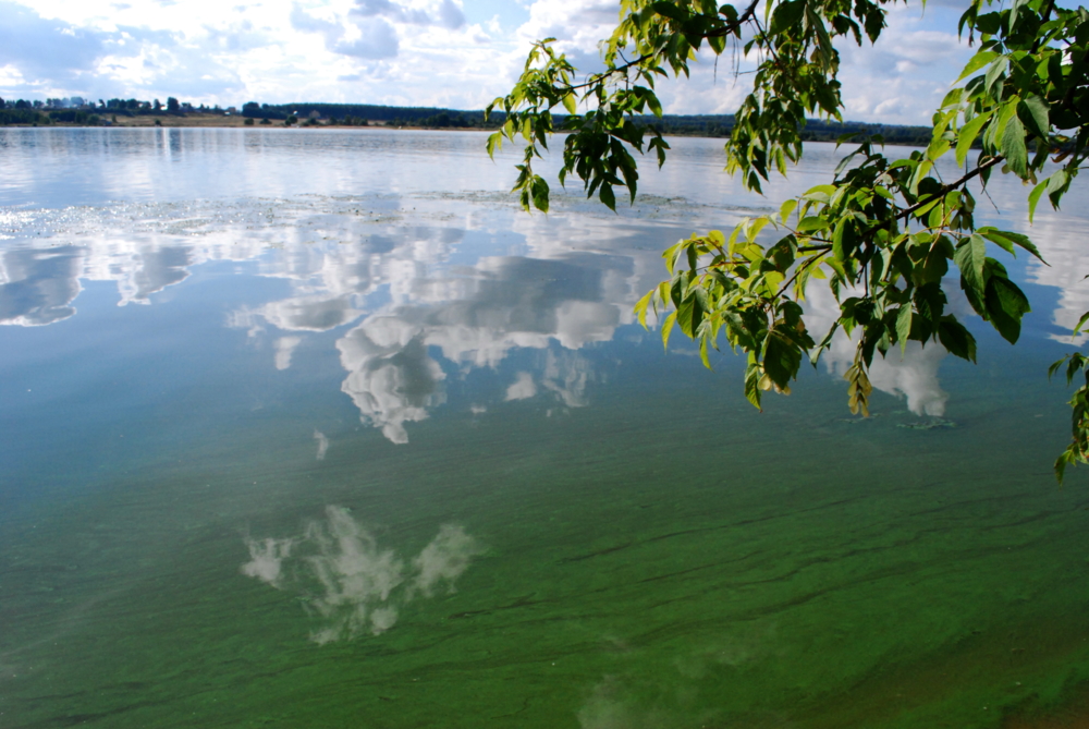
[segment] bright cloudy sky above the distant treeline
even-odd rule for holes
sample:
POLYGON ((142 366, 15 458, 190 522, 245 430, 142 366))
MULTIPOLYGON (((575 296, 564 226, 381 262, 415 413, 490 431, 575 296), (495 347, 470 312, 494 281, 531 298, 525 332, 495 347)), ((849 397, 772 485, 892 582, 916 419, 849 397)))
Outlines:
MULTIPOLYGON (((0 97, 168 96, 194 105, 327 101, 480 109, 554 37, 584 71, 615 0, 0 0, 0 97)), ((928 124, 971 54, 966 0, 891 8, 876 47, 841 46, 844 118, 928 124)), ((729 54, 729 51, 727 51, 729 54)), ((751 64, 742 63, 742 70, 751 64)), ((660 85, 666 113, 732 113, 749 76, 702 53, 660 85)))

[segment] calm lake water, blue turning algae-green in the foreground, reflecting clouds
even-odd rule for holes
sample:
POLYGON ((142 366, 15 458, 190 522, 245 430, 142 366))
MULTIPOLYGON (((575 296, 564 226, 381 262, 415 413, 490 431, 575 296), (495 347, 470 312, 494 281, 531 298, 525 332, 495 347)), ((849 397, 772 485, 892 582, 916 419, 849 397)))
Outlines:
POLYGON ((0 726, 1076 726, 1084 207, 992 183, 1051 264, 1017 348, 860 420, 844 342, 758 413, 631 308, 831 148, 530 217, 482 141, 0 130, 0 726))

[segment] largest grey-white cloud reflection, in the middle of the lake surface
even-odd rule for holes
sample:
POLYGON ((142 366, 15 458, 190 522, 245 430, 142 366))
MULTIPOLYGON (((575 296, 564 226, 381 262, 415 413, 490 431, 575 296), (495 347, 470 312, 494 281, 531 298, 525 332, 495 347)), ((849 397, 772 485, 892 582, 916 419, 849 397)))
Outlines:
MULTIPOLYGON (((408 441, 405 423, 418 422, 444 402, 445 374, 429 354, 468 367, 492 367, 518 348, 548 350, 541 385, 568 408, 587 404, 585 359, 555 354, 608 341, 629 306, 602 301, 602 278, 631 271, 631 259, 579 255, 577 260, 484 258, 457 277, 426 276, 400 287, 399 303, 372 314, 337 342, 348 372, 342 390, 362 417, 391 441, 408 441)), ((506 399, 527 399, 537 388, 523 378, 506 399)))

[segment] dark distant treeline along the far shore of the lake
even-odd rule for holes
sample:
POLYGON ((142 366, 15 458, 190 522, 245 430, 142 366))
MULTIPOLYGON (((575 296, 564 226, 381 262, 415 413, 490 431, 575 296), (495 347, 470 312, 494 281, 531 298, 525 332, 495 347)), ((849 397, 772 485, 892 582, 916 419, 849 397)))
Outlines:
MULTIPOLYGON (((180 104, 170 97, 167 104, 159 99, 139 101, 137 99, 109 99, 85 101, 82 98, 46 99, 45 101, 4 101, 0 99, 0 125, 46 126, 50 124, 76 124, 100 126, 118 121, 118 117, 180 117, 191 114, 235 116, 233 107, 194 107, 180 104)), ((435 107, 389 107, 372 104, 257 104, 249 101, 242 106, 246 124, 260 120, 268 125, 302 126, 383 126, 411 129, 498 129, 504 121, 502 113, 493 113, 485 120, 484 111, 463 111, 435 107)), ((562 121, 561 117, 556 117, 562 121)), ((637 124, 645 124, 662 134, 674 136, 729 137, 734 127, 732 114, 665 114, 661 119, 651 116, 635 117, 637 124)), ((902 126, 896 124, 867 124, 864 122, 827 122, 817 119, 806 121, 802 138, 806 142, 835 142, 844 134, 881 135, 888 144, 927 146, 931 130, 926 126, 902 126)))

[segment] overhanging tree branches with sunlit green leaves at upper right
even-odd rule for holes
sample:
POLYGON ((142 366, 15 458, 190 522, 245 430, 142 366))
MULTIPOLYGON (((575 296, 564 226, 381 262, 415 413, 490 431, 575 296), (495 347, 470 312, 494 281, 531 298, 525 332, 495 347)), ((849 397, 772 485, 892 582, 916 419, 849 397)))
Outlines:
MULTIPOLYGON (((758 65, 725 144, 726 170, 759 192, 771 173, 785 174, 802 158, 807 116, 842 121, 836 44, 877 40, 893 1, 620 0, 603 72, 577 81, 554 39, 535 44, 517 84, 488 108, 506 114, 488 151, 504 138, 524 141, 515 191, 526 209, 547 211, 549 186, 534 162, 553 133, 565 132, 561 184, 574 174, 588 196, 615 209, 617 189, 636 194, 633 153, 652 153, 661 166, 670 149, 661 134, 634 123, 638 114, 661 117, 656 81, 687 76, 701 48, 718 56, 729 47, 758 65)), ((856 414, 868 413, 876 353, 918 341, 975 362, 976 341, 949 306, 955 279, 947 275, 959 274, 975 312, 1016 342, 1029 302, 988 254, 1040 253, 1023 234, 977 227, 967 183, 978 177, 986 184, 1000 169, 1032 185, 1030 219, 1044 197, 1059 207, 1089 155, 1089 12, 1055 0, 971 0, 958 33, 976 53, 934 111, 926 149, 892 160, 880 136, 853 139, 857 146, 827 184, 730 234, 680 241, 664 253, 670 278, 636 306, 640 320, 648 308, 672 309, 663 339, 678 327, 699 342, 705 364, 720 338, 745 352, 745 393, 758 408, 763 392, 788 391, 803 361, 816 364, 843 329, 857 344, 845 375, 856 414), (964 171, 947 182, 934 168, 945 155, 964 171), (1059 167, 1044 177, 1049 159, 1059 167), (827 279, 839 302, 829 331, 806 326, 802 302, 815 278, 827 279)), ((1087 321, 1089 314, 1078 329, 1087 321)), ((1085 373, 1086 384, 1070 402, 1073 438, 1055 463, 1060 481, 1067 464, 1089 462, 1089 359, 1074 354, 1052 374, 1064 364, 1068 380, 1085 373)))

